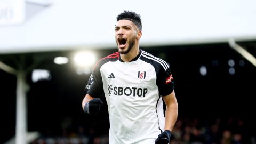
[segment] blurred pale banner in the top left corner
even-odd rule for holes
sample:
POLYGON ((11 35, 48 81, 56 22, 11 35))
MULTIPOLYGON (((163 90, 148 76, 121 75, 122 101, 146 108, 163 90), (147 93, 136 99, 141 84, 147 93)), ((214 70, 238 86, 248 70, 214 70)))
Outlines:
POLYGON ((17 25, 25 20, 25 0, 0 0, 0 26, 17 25))

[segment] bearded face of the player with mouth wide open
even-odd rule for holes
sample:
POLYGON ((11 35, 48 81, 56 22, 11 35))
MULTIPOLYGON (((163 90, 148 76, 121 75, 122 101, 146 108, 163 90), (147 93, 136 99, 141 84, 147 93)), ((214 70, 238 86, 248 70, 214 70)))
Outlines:
POLYGON ((135 24, 130 20, 119 20, 115 26, 115 38, 118 51, 127 54, 132 49, 137 37, 135 24))

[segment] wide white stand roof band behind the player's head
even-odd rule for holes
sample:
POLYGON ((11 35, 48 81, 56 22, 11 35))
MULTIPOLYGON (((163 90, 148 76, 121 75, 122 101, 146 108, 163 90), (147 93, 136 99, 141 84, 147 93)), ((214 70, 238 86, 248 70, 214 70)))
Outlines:
POLYGON ((255 6, 254 0, 55 0, 45 7, 27 4, 22 25, 0 26, 0 53, 115 48, 116 16, 123 10, 141 14, 141 46, 256 39, 255 6))

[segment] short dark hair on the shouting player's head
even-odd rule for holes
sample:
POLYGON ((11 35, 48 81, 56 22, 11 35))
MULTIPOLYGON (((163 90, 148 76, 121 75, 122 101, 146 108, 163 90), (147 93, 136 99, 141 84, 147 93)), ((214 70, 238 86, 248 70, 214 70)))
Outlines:
POLYGON ((116 21, 119 21, 119 20, 122 20, 122 19, 132 21, 133 23, 135 23, 136 26, 138 26, 138 28, 140 30, 142 30, 140 14, 132 12, 132 11, 124 10, 124 12, 117 15, 116 21))

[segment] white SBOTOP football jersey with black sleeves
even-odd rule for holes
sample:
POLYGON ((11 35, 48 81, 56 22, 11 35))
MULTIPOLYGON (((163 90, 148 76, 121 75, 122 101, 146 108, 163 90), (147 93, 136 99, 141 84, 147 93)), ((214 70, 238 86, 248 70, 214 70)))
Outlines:
POLYGON ((164 130, 161 95, 173 89, 169 64, 140 49, 130 62, 119 59, 119 52, 101 59, 85 90, 92 97, 105 94, 110 144, 153 144, 164 130))

